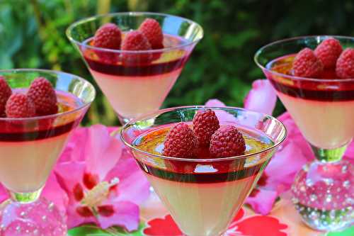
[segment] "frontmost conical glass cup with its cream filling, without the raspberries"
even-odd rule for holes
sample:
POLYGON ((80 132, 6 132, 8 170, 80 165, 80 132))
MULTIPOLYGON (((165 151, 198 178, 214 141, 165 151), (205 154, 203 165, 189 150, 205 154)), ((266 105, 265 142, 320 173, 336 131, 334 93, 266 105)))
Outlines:
POLYGON ((267 142, 267 147, 219 159, 165 157, 161 155, 162 143, 156 145, 154 152, 139 148, 139 143, 149 143, 142 137, 152 137, 153 143, 158 137, 152 135, 154 132, 159 134, 179 122, 191 124, 195 113, 205 108, 187 106, 160 110, 130 121, 120 133, 177 225, 189 236, 222 235, 227 230, 286 136, 284 125, 271 116, 241 108, 210 107, 229 117, 229 121, 220 125, 237 125, 255 140, 267 142))

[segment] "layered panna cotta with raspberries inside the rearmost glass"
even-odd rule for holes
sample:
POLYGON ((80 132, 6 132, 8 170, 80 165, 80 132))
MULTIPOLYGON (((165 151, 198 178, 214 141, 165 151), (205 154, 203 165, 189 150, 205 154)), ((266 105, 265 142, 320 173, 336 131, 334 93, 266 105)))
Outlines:
POLYGON ((162 33, 152 18, 123 32, 106 23, 85 43, 92 46, 81 47, 89 71, 125 119, 158 110, 190 55, 187 40, 162 33))

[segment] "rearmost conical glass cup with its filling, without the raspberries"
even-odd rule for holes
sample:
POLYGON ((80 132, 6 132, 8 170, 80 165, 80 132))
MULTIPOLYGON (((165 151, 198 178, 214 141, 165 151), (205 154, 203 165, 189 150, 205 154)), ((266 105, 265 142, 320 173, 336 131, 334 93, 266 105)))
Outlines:
POLYGON ((144 12, 93 16, 77 21, 67 29, 67 37, 81 53, 122 124, 159 109, 202 36, 203 30, 198 23, 178 16, 144 12), (90 44, 96 30, 104 23, 115 23, 124 35, 137 30, 146 18, 154 18, 160 23, 164 48, 110 50, 90 44), (144 62, 141 58, 147 55, 152 60, 144 62), (123 57, 135 57, 136 60, 126 63, 123 57))

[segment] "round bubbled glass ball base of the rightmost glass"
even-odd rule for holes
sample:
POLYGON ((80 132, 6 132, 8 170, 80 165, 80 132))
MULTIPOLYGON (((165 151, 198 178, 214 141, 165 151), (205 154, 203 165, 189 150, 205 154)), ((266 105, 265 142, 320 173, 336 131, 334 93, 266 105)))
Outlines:
POLYGON ((292 201, 302 220, 321 231, 340 231, 354 223, 354 167, 350 162, 306 164, 292 185, 292 201))

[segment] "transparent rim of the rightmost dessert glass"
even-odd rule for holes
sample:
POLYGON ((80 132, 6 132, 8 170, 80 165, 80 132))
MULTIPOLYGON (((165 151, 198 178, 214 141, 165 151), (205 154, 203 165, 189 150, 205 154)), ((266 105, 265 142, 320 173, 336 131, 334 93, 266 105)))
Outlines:
POLYGON ((293 38, 286 38, 286 39, 282 39, 282 40, 278 40, 275 41, 273 43, 268 43, 267 45, 264 45, 263 47, 261 47, 260 49, 257 50, 256 54, 253 57, 254 62, 256 62, 256 64, 258 65, 258 67, 260 67, 262 70, 269 72, 271 74, 275 74, 278 75, 280 77, 286 77, 292 80, 299 80, 299 81, 308 81, 308 82, 319 82, 319 83, 324 83, 324 82, 354 82, 354 78, 353 79, 316 79, 316 78, 306 78, 306 77, 295 77, 292 75, 288 75, 288 74, 282 74, 279 72, 274 72, 268 68, 263 67, 263 65, 259 62, 258 58, 260 57, 261 53, 263 52, 263 50, 265 50, 268 47, 272 47, 275 45, 282 45, 283 43, 290 43, 291 41, 297 41, 297 40, 304 40, 305 38, 318 38, 318 40, 323 39, 323 38, 336 38, 338 40, 341 39, 347 39, 347 40, 353 40, 354 43, 354 38, 353 37, 349 37, 349 36, 341 36, 341 35, 306 35, 306 36, 299 36, 299 37, 293 37, 293 38))

